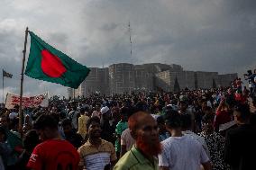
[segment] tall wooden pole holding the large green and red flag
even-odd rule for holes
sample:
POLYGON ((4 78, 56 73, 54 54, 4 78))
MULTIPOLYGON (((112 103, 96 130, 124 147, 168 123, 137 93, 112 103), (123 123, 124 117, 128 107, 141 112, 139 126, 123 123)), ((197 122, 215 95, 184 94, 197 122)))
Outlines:
POLYGON ((28 39, 29 28, 26 28, 25 31, 25 41, 23 49, 23 67, 22 67, 22 77, 21 77, 21 93, 20 93, 20 108, 19 108, 19 130, 23 130, 23 76, 24 76, 24 64, 26 58, 26 49, 27 49, 27 39, 28 39))

